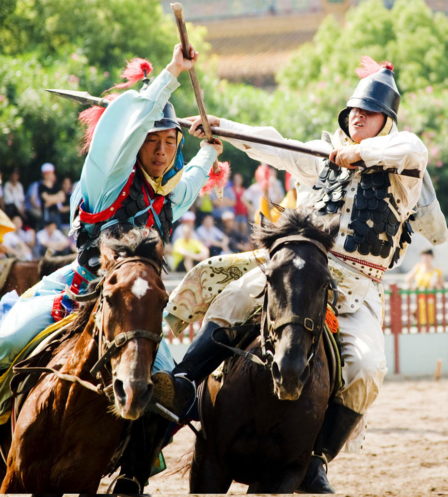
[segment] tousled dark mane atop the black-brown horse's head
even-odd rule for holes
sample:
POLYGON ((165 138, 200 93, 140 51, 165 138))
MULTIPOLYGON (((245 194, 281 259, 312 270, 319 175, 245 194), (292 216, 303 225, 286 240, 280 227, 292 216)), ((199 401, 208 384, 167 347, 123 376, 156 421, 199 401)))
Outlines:
POLYGON ((275 207, 282 212, 276 223, 264 219, 261 226, 254 225, 251 238, 256 248, 269 249, 279 238, 298 234, 320 242, 327 250, 333 247, 334 238, 330 234, 330 223, 317 216, 312 207, 275 207))

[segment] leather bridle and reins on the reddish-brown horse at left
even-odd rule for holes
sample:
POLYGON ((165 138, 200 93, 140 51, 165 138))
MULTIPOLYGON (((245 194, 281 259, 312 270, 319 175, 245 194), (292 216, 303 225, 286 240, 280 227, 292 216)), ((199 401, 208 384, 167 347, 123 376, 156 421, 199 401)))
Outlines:
POLYGON ((112 341, 108 341, 104 335, 103 330, 103 318, 104 318, 104 306, 103 306, 103 286, 107 278, 112 274, 115 269, 127 264, 129 262, 144 262, 145 264, 149 264, 157 272, 157 275, 160 277, 162 271, 162 260, 157 257, 143 257, 140 255, 134 255, 130 257, 124 257, 117 261, 108 271, 105 273, 99 282, 96 284, 95 289, 92 292, 76 295, 73 293, 68 286, 66 286, 66 294, 76 302, 88 302, 94 299, 97 299, 97 307, 95 311, 95 325, 93 329, 93 337, 97 337, 97 346, 98 346, 98 360, 93 365, 90 370, 90 374, 95 377, 97 380, 100 380, 100 384, 94 385, 89 381, 82 380, 78 376, 61 373, 57 369, 50 367, 14 367, 14 372, 17 373, 54 373, 58 378, 63 380, 68 380, 72 382, 77 382, 85 388, 92 390, 98 394, 104 393, 107 398, 111 401, 113 399, 113 386, 111 381, 112 374, 107 369, 107 364, 113 355, 117 352, 117 350, 123 345, 125 345, 129 340, 134 338, 147 338, 156 344, 155 352, 152 356, 151 368, 155 360, 155 353, 157 352, 158 345, 162 339, 162 334, 154 333, 153 331, 145 330, 145 329, 136 329, 130 331, 124 331, 118 334, 112 341), (104 350, 104 352, 103 352, 104 350), (107 379, 106 379, 107 377, 107 379))

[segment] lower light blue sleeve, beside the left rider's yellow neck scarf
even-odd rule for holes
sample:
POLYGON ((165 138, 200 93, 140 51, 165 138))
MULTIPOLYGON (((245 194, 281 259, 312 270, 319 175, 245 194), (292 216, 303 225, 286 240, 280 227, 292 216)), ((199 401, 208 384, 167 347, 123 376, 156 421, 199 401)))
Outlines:
POLYGON ((216 158, 216 150, 206 145, 184 166, 180 181, 168 195, 173 208, 173 221, 182 217, 196 200, 209 179, 209 171, 216 158))

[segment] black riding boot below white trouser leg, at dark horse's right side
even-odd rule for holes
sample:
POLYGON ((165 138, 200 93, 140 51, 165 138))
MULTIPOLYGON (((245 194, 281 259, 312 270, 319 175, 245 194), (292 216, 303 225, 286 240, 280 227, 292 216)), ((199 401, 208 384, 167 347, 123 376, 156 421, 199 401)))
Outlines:
POLYGON ((323 464, 332 461, 338 455, 362 416, 337 401, 332 401, 328 405, 322 427, 314 443, 314 454, 300 485, 301 491, 308 494, 335 493, 328 482, 323 464))

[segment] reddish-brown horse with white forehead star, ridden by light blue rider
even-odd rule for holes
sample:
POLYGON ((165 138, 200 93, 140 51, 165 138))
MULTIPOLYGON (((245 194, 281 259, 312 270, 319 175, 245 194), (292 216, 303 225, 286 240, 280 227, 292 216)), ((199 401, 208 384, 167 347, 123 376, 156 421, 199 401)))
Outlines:
POLYGON ((152 230, 103 235, 103 276, 46 364, 54 371, 40 376, 22 406, 0 493, 96 493, 151 398, 168 301, 162 253, 152 230), (91 372, 102 386, 91 384, 91 372))

